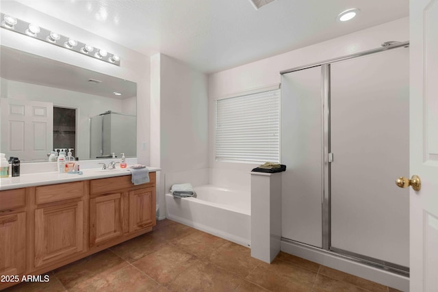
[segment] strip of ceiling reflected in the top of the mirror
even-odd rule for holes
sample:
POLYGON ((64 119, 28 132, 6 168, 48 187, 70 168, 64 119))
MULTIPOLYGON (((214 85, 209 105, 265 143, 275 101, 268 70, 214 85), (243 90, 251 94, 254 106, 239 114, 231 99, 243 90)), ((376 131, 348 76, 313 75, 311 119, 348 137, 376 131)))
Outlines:
POLYGON ((8 80, 116 99, 137 96, 137 85, 132 81, 8 47, 0 47, 0 64, 0 77, 8 80), (90 82, 90 79, 101 82, 90 82), (120 95, 115 95, 114 92, 120 95))

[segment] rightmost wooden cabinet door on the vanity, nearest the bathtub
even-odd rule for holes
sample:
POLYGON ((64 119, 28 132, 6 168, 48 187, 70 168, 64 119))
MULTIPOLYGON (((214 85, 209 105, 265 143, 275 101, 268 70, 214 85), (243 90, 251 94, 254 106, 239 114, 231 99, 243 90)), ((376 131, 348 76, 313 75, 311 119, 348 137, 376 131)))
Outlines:
POLYGON ((155 187, 129 192, 129 232, 155 225, 155 187))

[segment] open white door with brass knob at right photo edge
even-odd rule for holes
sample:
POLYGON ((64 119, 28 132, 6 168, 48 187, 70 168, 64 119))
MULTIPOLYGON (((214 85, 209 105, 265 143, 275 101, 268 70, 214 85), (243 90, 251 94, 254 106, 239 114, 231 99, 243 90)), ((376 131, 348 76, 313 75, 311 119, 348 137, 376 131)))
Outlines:
POLYGON ((438 289, 438 0, 409 5, 409 171, 422 180, 420 191, 410 189, 410 291, 432 292, 438 289))

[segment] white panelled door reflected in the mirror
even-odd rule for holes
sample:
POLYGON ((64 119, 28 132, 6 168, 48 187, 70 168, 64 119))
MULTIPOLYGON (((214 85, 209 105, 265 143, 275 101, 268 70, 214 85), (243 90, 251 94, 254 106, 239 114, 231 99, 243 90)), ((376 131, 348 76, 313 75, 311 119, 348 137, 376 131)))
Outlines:
POLYGON ((22 162, 47 161, 53 150, 53 103, 0 98, 1 152, 22 162))

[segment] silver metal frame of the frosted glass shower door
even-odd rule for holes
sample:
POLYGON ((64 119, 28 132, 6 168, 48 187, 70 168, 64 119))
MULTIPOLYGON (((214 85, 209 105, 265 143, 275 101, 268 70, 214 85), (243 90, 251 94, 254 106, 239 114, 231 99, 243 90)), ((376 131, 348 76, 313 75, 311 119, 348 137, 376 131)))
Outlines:
POLYGON ((323 191, 322 191, 322 248, 315 248, 313 245, 308 245, 306 243, 302 243, 299 241, 294 241, 292 239, 287 239, 285 237, 281 237, 281 241, 293 243, 295 245, 305 246, 311 250, 317 250, 318 252, 324 252, 326 254, 331 254, 335 256, 339 256, 341 258, 346 258, 350 261, 356 261, 358 263, 362 263, 365 265, 370 265, 372 267, 376 267, 378 269, 384 269, 386 271, 391 271, 394 274, 399 274, 402 276, 409 277, 409 267, 404 267, 401 265, 397 265, 395 263, 388 263, 382 261, 378 258, 371 258, 369 256, 365 256, 363 254, 355 254, 354 252, 349 252, 347 250, 342 250, 339 248, 333 248, 331 246, 331 162, 335 159, 333 154, 331 153, 330 144, 330 65, 335 62, 345 61, 347 59, 355 59, 357 57, 362 57, 365 55, 371 55, 373 53, 380 53, 383 51, 388 51, 391 49, 397 49, 400 47, 409 47, 409 41, 407 42, 391 42, 391 44, 387 44, 385 47, 380 47, 376 49, 371 49, 368 51, 363 51, 360 53, 355 53, 352 55, 346 55, 344 57, 337 57, 333 59, 328 59, 323 62, 317 62, 305 66, 298 66, 295 68, 283 70, 280 72, 280 75, 287 74, 290 72, 295 72, 299 70, 305 70, 308 68, 313 68, 316 66, 321 66, 321 101, 322 101, 322 176, 323 176, 323 191))

